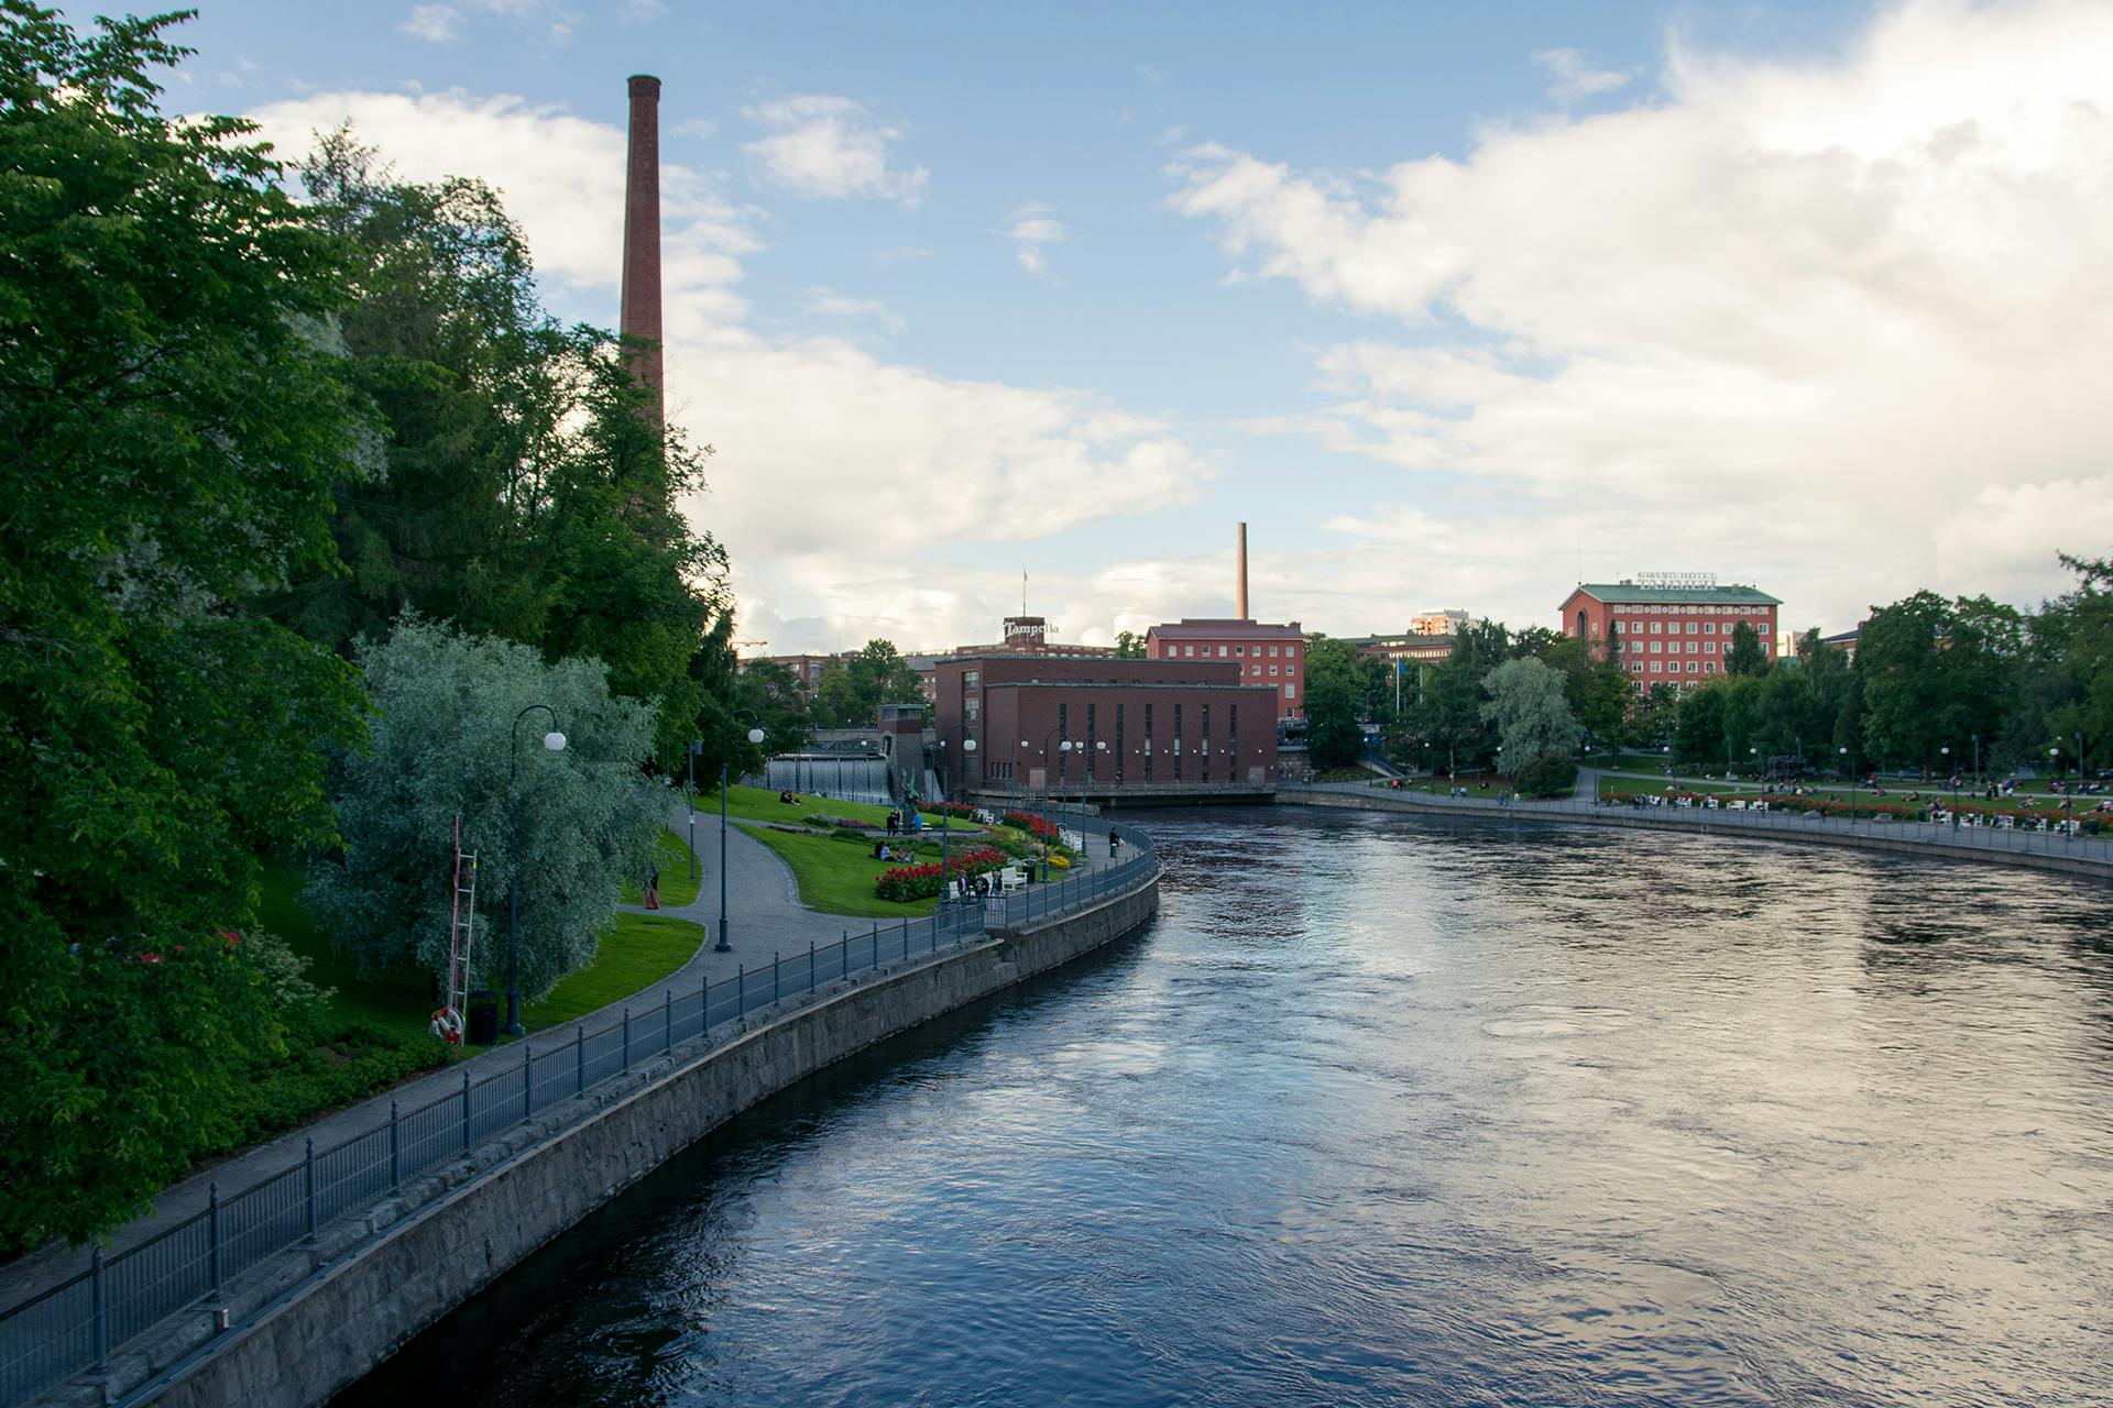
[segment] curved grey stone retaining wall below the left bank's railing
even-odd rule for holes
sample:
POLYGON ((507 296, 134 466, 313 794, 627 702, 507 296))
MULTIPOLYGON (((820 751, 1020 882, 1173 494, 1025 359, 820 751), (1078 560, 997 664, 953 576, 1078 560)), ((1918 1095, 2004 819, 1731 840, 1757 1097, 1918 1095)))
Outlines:
POLYGON ((46 1402, 321 1404, 503 1271, 727 1117, 919 1022, 1061 967, 1158 914, 1158 874, 1090 910, 993 929, 818 1003, 754 1017, 721 1045, 678 1047, 600 1096, 549 1110, 461 1165, 408 1184, 311 1252, 260 1267, 226 1298, 46 1402), (581 1104, 592 1112, 581 1123, 581 1104))

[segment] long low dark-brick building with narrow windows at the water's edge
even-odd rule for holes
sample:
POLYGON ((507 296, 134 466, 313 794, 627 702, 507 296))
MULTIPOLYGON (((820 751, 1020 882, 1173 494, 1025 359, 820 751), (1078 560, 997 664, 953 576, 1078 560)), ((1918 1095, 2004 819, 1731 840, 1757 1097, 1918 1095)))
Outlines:
POLYGON ((1276 781, 1276 690, 1232 659, 951 657, 934 724, 951 792, 1276 781))

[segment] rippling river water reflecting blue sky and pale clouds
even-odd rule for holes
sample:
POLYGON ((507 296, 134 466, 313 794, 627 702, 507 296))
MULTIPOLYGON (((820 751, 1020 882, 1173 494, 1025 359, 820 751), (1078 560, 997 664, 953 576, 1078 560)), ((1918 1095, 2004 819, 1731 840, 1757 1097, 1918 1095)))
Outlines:
POLYGON ((2113 891, 1147 825, 1141 937, 740 1117, 340 1402, 2113 1402, 2113 891))

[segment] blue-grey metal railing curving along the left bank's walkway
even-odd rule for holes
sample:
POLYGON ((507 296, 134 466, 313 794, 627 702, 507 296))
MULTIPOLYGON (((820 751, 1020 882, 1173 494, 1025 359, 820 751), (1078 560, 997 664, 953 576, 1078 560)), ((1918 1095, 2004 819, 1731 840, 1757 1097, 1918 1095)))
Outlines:
MULTIPOLYGON (((744 967, 716 984, 699 979, 680 996, 670 986, 659 1005, 625 1007, 600 1030, 577 1024, 568 1043, 547 1045, 547 1034, 541 1051, 535 1039, 520 1043, 522 1060, 509 1070, 471 1079, 465 1068, 463 1085, 437 1100, 414 1108, 391 1100, 385 1121, 328 1148, 308 1140, 298 1163, 239 1193, 222 1197, 211 1184, 205 1212, 116 1256, 97 1250, 89 1271, 0 1311, 0 1408, 72 1374, 101 1370, 114 1349, 199 1300, 218 1300, 251 1267, 313 1243, 319 1229, 467 1157, 503 1129, 628 1074, 642 1060, 786 998, 811 996, 822 984, 980 939, 991 918, 1021 925, 1061 914, 1143 878, 1149 842, 1126 827, 1124 842, 1135 859, 993 899, 989 912, 983 903, 945 906, 928 918, 875 922, 866 933, 843 929, 833 944, 771 954, 767 969, 744 967)), ((571 1123, 577 1121, 564 1127, 571 1123)))

